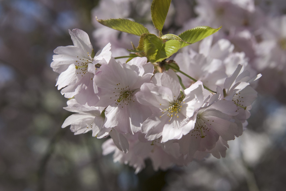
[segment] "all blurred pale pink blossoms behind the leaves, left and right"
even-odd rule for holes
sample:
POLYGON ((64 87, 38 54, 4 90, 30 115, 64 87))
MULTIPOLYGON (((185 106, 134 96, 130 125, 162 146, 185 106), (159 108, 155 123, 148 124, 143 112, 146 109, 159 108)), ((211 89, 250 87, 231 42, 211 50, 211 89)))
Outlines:
MULTIPOLYGON (((111 42, 112 53, 118 56, 124 53, 124 48, 130 49, 130 40, 137 40, 136 36, 127 33, 122 33, 122 36, 117 38, 120 32, 100 25, 95 19, 96 15, 103 19, 138 17, 153 33, 148 3, 148 0, 100 1, 92 10, 96 27, 93 35, 96 42, 101 46, 111 42), (110 5, 112 7, 106 9, 110 5), (108 37, 107 33, 110 34, 108 37)), ((227 39, 237 52, 245 53, 249 65, 264 76, 259 82, 260 92, 275 95, 281 85, 286 85, 285 10, 284 0, 196 0, 195 3, 189 0, 176 0, 170 5, 164 28, 171 32, 178 28, 176 33, 180 33, 199 25, 214 28, 222 26, 213 35, 213 43, 227 39)), ((190 47, 196 49, 198 44, 190 47)))

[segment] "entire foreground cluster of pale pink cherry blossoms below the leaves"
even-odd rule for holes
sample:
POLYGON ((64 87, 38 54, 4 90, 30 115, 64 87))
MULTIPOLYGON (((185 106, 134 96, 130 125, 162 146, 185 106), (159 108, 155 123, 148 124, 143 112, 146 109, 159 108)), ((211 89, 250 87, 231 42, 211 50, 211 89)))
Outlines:
POLYGON ((158 72, 146 57, 121 63, 111 56, 110 43, 95 53, 87 33, 69 34, 74 45, 57 47, 51 63, 59 73, 57 88, 69 98, 65 109, 75 112, 62 128, 110 136, 103 154, 114 152, 115 162, 136 173, 148 158, 157 170, 209 154, 225 157, 227 141, 247 126, 257 97, 252 86, 261 75, 229 41, 211 45, 206 38, 198 52, 186 49, 167 61, 180 70, 158 72))

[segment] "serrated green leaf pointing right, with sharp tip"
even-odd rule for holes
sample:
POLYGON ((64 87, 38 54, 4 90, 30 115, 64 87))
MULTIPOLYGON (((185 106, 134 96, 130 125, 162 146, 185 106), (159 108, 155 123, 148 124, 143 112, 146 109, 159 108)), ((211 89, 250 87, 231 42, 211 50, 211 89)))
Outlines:
MULTIPOLYGON (((183 40, 186 41, 190 44, 198 42, 209 35, 212 35, 213 33, 217 32, 221 27, 214 29, 212 27, 207 27, 207 26, 200 26, 200 27, 195 27, 193 29, 187 30, 179 35, 179 37, 183 40)), ((188 46, 188 43, 181 42, 181 48, 188 46)))

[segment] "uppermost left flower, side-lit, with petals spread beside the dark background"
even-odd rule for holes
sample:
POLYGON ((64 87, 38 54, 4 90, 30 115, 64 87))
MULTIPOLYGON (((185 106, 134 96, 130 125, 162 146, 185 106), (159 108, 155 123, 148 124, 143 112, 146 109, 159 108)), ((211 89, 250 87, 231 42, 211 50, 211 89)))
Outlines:
POLYGON ((92 55, 88 34, 80 29, 69 31, 74 46, 57 47, 51 67, 60 73, 56 86, 66 98, 75 97, 80 104, 93 106, 98 101, 93 78, 97 64, 107 64, 111 58, 110 44, 92 55), (93 56, 93 57, 92 57, 93 56))

